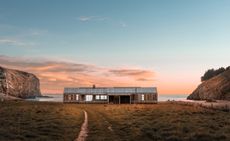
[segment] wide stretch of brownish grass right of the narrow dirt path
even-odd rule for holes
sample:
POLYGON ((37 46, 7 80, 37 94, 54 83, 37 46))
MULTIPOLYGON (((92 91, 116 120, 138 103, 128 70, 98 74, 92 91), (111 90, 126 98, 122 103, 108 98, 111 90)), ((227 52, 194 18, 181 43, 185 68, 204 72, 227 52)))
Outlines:
POLYGON ((166 103, 85 109, 88 140, 230 140, 229 112, 166 103))

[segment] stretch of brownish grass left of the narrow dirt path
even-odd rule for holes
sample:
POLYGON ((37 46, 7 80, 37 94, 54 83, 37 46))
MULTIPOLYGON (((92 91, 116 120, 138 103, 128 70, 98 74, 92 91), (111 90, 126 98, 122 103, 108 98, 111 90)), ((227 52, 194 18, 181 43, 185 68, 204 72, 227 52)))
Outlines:
POLYGON ((0 140, 66 140, 77 137, 83 113, 72 105, 0 102, 0 140))

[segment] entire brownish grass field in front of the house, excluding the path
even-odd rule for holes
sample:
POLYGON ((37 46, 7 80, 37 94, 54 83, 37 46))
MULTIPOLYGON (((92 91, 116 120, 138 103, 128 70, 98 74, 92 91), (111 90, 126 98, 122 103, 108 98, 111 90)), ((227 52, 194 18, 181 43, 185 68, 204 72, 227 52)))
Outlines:
POLYGON ((74 140, 88 113, 87 140, 230 140, 230 112, 159 103, 0 103, 0 140, 74 140))

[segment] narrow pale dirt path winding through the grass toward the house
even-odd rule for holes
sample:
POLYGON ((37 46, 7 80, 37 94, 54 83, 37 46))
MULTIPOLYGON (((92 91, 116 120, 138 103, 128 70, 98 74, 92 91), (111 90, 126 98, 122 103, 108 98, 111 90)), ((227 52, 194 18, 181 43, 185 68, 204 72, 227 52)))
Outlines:
POLYGON ((88 133, 88 114, 86 111, 84 111, 85 114, 85 120, 84 123, 81 126, 81 131, 78 135, 78 138, 75 141, 85 141, 88 133))

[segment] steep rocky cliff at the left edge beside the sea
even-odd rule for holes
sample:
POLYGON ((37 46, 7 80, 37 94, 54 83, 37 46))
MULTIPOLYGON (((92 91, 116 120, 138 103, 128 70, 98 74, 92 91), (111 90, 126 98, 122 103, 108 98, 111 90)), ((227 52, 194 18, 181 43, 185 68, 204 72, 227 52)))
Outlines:
POLYGON ((41 96, 40 82, 31 73, 0 66, 0 93, 18 98, 41 96))

